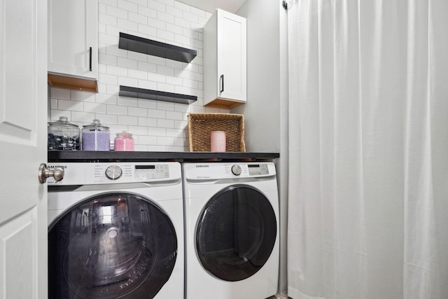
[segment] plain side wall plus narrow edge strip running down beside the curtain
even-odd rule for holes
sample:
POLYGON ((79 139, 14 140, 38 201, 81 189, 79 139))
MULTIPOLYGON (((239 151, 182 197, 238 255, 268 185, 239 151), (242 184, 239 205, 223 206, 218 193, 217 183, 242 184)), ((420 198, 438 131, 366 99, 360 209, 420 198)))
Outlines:
POLYGON ((237 12, 247 19, 247 103, 232 109, 244 114, 246 150, 280 153, 276 159, 280 206, 279 293, 286 293, 288 53, 286 11, 281 0, 247 0, 237 12), (283 179, 285 178, 285 179, 283 179))

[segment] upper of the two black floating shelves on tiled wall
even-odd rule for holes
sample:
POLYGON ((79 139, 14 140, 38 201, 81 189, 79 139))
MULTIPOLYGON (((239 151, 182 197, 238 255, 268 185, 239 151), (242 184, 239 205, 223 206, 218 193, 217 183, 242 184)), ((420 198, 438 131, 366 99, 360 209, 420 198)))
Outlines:
POLYGON ((123 32, 120 32, 118 48, 187 63, 190 63, 197 55, 196 50, 144 39, 123 32))

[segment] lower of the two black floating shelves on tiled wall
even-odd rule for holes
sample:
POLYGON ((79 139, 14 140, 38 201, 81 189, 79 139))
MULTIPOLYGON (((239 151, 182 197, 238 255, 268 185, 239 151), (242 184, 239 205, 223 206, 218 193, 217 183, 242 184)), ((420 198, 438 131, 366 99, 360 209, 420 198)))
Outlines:
POLYGON ((138 97, 139 99, 155 99, 156 101, 174 102, 180 104, 192 104, 197 101, 194 95, 181 95, 173 92, 162 92, 158 90, 147 90, 144 88, 132 88, 120 85, 118 95, 123 97, 138 97))

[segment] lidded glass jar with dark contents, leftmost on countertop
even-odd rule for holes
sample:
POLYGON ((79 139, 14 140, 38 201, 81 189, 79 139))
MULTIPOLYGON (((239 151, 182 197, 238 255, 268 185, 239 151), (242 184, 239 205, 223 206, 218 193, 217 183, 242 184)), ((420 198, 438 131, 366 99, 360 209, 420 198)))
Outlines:
POLYGON ((69 123, 65 116, 48 123, 48 151, 78 151, 80 149, 78 125, 69 123))

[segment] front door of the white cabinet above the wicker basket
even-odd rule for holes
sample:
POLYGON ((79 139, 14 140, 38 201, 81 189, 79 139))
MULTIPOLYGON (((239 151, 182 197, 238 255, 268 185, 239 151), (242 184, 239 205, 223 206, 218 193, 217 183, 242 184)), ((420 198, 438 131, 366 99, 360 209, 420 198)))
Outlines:
POLYGON ((246 19, 218 10, 218 97, 246 101, 246 19))

